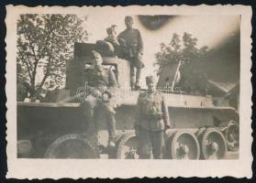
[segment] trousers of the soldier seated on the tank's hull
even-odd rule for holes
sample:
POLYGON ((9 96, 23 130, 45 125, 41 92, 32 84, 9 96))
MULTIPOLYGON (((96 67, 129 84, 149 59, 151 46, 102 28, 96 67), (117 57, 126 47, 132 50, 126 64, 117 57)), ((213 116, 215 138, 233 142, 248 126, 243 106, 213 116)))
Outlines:
POLYGON ((89 133, 97 134, 97 126, 100 113, 104 113, 108 131, 108 140, 114 141, 116 135, 116 118, 115 110, 111 102, 102 102, 100 99, 89 95, 86 101, 81 103, 85 121, 89 124, 89 133))

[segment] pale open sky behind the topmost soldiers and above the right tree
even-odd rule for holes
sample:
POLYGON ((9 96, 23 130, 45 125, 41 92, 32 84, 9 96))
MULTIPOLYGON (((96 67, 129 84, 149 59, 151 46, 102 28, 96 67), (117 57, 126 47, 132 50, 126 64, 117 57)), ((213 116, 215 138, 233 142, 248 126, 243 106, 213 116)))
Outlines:
MULTIPOLYGON (((130 15, 129 15, 130 16, 130 15)), ((89 31, 88 42, 95 43, 96 40, 106 38, 106 27, 117 25, 117 34, 125 27, 124 16, 100 16, 97 14, 87 16, 86 28, 89 31)), ((157 68, 154 67, 156 61, 154 54, 160 50, 161 42, 169 43, 173 33, 179 35, 184 32, 191 33, 198 38, 198 46, 216 48, 234 31, 239 29, 239 16, 175 16, 165 26, 158 30, 149 30, 140 22, 138 16, 133 16, 134 28, 139 29, 143 43, 143 62, 146 67, 141 73, 141 85, 145 85, 143 80, 147 75, 155 75, 157 68)))

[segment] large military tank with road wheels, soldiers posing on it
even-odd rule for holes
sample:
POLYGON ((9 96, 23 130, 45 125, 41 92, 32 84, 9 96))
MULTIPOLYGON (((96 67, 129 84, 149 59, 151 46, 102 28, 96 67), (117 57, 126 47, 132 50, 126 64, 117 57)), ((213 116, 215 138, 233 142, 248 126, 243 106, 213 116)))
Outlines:
MULTIPOLYGON (((176 67, 169 81, 177 80, 179 64, 176 67)), ((57 95, 45 102, 17 102, 17 157, 138 158, 139 142, 133 124, 139 92, 143 90, 129 89, 128 60, 119 59, 103 45, 75 43, 73 59, 67 61, 66 68, 66 86, 57 95), (83 87, 83 69, 91 64, 92 50, 101 53, 104 67, 117 77, 116 147, 107 146, 104 116, 97 122, 96 136, 90 135, 80 102, 74 97, 83 87)), ((235 108, 220 105, 211 96, 161 92, 174 124, 165 134, 164 158, 223 159, 228 152, 239 151, 239 113, 235 108)))

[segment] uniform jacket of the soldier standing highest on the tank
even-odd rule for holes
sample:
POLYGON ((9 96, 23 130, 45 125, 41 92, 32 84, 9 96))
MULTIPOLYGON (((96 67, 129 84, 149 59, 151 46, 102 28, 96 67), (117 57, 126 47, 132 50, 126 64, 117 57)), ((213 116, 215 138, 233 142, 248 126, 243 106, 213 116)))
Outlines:
POLYGON ((125 48, 129 58, 137 57, 138 54, 143 54, 143 42, 138 29, 126 29, 118 35, 125 41, 125 48))

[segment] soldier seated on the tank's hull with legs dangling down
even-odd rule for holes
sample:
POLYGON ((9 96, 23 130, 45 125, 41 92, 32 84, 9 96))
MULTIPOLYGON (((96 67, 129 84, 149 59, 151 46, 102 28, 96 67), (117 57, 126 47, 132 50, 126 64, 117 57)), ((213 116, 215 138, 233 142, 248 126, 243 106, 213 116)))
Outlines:
POLYGON ((83 114, 89 123, 89 133, 97 134, 97 117, 104 113, 108 130, 108 145, 115 146, 115 110, 111 87, 117 87, 117 79, 114 72, 104 69, 101 55, 92 51, 93 65, 84 71, 84 82, 86 82, 86 100, 81 103, 83 114), (112 97, 112 98, 111 98, 112 97))

